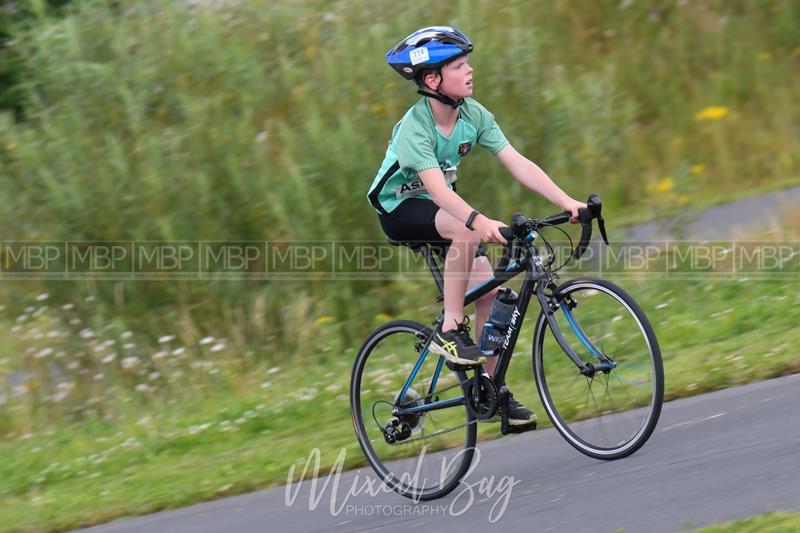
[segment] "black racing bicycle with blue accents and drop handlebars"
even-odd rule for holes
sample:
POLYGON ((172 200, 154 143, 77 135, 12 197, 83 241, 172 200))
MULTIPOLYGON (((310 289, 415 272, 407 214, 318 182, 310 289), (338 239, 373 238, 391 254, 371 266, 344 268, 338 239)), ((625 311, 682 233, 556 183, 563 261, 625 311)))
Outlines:
MULTIPOLYGON (((430 352, 443 312, 430 326, 389 321, 359 349, 350 382, 353 426, 370 466, 399 494, 420 501, 452 491, 473 461, 478 422, 499 418, 503 435, 535 428, 508 423, 504 385, 531 301, 539 308, 533 376, 544 410, 564 439, 587 456, 612 460, 634 453, 653 433, 664 394, 655 333, 641 307, 616 284, 592 277, 557 282, 564 265, 554 267, 556 253, 541 230, 569 219, 569 212, 542 219, 514 215, 502 228, 508 242, 493 275, 465 294, 466 306, 524 275, 510 322, 499 332, 492 376, 482 366, 453 366, 430 352), (537 239, 544 244, 541 252, 537 239)), ((596 194, 579 210, 579 221, 580 241, 570 246, 566 262, 584 254, 595 221, 608 244, 596 194)), ((442 301, 434 246, 392 244, 425 257, 442 301)))

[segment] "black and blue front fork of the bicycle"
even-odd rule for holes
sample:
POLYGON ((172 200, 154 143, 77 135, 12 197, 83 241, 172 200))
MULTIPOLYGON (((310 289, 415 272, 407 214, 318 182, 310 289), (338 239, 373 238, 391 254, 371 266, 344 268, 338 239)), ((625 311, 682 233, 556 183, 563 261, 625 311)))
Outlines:
POLYGON ((564 350, 564 353, 566 353, 572 362, 575 363, 575 366, 578 368, 581 374, 591 378, 594 377, 597 372, 604 372, 605 374, 608 374, 611 372, 611 370, 616 368, 617 364, 610 357, 600 351, 600 349, 591 341, 591 339, 589 339, 589 336, 586 335, 586 333, 583 331, 583 328, 581 328, 580 323, 572 314, 572 310, 578 306, 578 302, 573 300, 569 295, 561 294, 558 290, 558 286, 553 281, 548 283, 538 283, 536 285, 536 298, 539 300, 539 304, 541 305, 542 311, 547 319, 547 325, 550 326, 553 336, 556 338, 559 346, 561 346, 561 349, 564 350), (583 346, 589 350, 589 353, 598 360, 597 363, 585 362, 577 353, 575 353, 575 350, 572 349, 572 346, 570 346, 570 343, 567 342, 567 339, 564 337, 564 334, 561 332, 561 328, 558 326, 558 322, 556 321, 555 314, 559 310, 564 313, 570 329, 581 342, 581 344, 583 344, 583 346))

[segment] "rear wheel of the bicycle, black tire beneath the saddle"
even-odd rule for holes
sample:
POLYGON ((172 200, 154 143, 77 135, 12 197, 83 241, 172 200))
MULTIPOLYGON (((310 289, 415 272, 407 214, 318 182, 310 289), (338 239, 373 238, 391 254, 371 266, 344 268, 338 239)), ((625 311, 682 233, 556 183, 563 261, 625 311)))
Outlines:
MULTIPOLYGON (((395 402, 396 396, 399 395, 405 383, 405 378, 411 373, 407 370, 408 364, 414 366, 422 353, 422 351, 416 351, 415 345, 422 340, 422 346, 427 347, 432 334, 430 328, 410 320, 393 320, 383 324, 369 334, 359 349, 350 380, 350 411, 356 437, 364 456, 381 480, 402 496, 414 501, 441 498, 458 485, 472 463, 477 435, 477 424, 462 403, 447 409, 429 411, 424 414, 422 421, 420 421, 420 417, 409 420, 411 425, 416 426, 412 438, 424 436, 426 431, 435 434, 441 431, 441 428, 447 427, 448 424, 451 427, 467 424, 460 430, 433 436, 428 440, 419 441, 419 443, 412 441, 404 447, 390 445, 383 439, 380 428, 385 427, 387 409, 390 409, 395 402), (392 368, 399 366, 402 366, 403 369, 396 372, 397 377, 389 376, 392 368), (381 373, 376 376, 376 372, 381 373), (391 383, 387 383, 387 381, 391 383), (385 388, 385 390, 376 391, 375 388, 385 388), (383 409, 383 412, 379 413, 383 419, 376 416, 376 409, 383 409), (437 419, 444 425, 440 427, 437 419), (455 434, 457 432, 459 434, 455 434), (430 447, 433 448, 432 452, 428 451, 430 447), (428 483, 429 479, 426 473, 422 474, 423 479, 415 479, 409 473, 410 470, 422 472, 438 459, 446 460, 447 455, 453 452, 456 455, 447 462, 447 475, 438 475, 441 472, 441 465, 433 468, 433 472, 437 473, 439 478, 445 477, 445 479, 437 480, 434 477, 433 481, 428 483), (415 465, 409 469, 402 466, 404 461, 407 462, 409 457, 416 454, 419 455, 416 459, 418 466, 415 465)), ((439 364, 438 361, 438 355, 427 352, 423 366, 417 374, 417 377, 423 380, 417 387, 423 392, 415 393, 416 397, 423 396, 419 400, 420 402, 424 401, 424 395, 428 390, 423 387, 430 385, 430 382, 425 384, 424 377, 433 375, 431 370, 439 364)), ((460 386, 463 374, 459 377, 457 373, 448 370, 446 366, 442 366, 440 372, 437 384, 449 383, 450 386, 450 389, 445 390, 443 394, 447 393, 454 397, 463 396, 460 386)), ((416 383, 418 383, 417 378, 412 382, 412 389, 414 388, 413 384, 416 383)), ((406 398, 408 397, 407 395, 406 398)))

